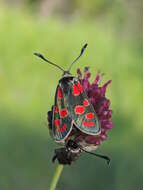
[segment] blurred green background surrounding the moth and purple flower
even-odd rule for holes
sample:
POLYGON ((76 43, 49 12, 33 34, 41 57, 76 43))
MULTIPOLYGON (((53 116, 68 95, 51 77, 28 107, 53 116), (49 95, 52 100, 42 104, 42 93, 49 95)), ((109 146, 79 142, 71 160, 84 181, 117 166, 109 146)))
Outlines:
POLYGON ((44 53, 67 68, 90 66, 92 77, 112 79, 107 90, 115 128, 98 153, 64 168, 58 190, 143 187, 143 1, 0 1, 0 189, 47 190, 56 144, 46 113, 61 72, 33 56, 44 53))

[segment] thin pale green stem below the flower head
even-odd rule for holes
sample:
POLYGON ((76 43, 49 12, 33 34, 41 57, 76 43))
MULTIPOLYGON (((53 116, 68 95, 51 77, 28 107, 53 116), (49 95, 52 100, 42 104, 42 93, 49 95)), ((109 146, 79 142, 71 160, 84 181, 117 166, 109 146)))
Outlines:
POLYGON ((57 186, 57 183, 59 181, 62 170, 63 170, 63 165, 58 164, 49 190, 55 190, 56 189, 56 186, 57 186))

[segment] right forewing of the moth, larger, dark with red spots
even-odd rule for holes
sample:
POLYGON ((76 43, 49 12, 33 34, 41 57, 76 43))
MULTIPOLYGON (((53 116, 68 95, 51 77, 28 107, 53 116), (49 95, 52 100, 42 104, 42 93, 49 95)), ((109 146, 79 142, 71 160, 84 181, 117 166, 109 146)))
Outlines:
POLYGON ((86 134, 98 135, 101 132, 98 117, 78 79, 73 78, 66 97, 67 110, 76 127, 86 134))

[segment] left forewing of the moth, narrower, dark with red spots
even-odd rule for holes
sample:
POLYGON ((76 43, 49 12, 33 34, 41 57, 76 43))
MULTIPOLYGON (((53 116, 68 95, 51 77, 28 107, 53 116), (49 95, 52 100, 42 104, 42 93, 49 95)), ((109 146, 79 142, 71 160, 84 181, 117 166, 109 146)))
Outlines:
POLYGON ((52 117, 52 133, 56 142, 64 142, 72 129, 72 119, 66 107, 63 90, 58 85, 52 117))

